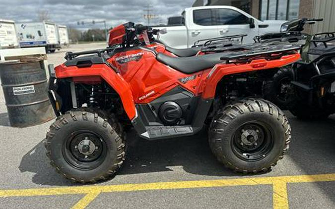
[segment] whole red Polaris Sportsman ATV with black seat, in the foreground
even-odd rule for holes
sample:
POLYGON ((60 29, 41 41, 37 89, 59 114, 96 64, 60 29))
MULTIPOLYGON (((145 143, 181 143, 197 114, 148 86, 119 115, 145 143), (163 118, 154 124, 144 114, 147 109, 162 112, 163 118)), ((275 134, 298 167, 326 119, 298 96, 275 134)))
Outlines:
POLYGON ((287 151, 291 129, 276 105, 260 99, 262 84, 297 61, 300 47, 255 44, 172 57, 148 48, 145 32, 121 25, 110 32, 108 49, 68 52, 64 64, 50 68, 58 117, 45 147, 56 170, 73 181, 103 180, 125 160, 125 127, 159 140, 195 135, 206 123, 210 148, 228 168, 270 170, 287 151))

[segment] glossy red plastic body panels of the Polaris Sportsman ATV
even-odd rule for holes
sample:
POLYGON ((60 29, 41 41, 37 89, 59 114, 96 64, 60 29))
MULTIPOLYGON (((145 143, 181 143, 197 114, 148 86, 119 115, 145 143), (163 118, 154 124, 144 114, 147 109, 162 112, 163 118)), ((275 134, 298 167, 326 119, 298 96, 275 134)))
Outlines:
POLYGON ((132 120, 136 116, 135 104, 148 104, 177 86, 208 100, 214 97, 217 83, 226 75, 277 68, 299 58, 300 54, 296 52, 278 59, 255 59, 245 64, 222 61, 213 68, 184 74, 157 61, 156 53, 151 49, 137 48, 116 52, 107 60, 118 72, 107 64, 92 64, 90 67, 63 64, 56 67, 56 77, 100 76, 120 95, 132 120))

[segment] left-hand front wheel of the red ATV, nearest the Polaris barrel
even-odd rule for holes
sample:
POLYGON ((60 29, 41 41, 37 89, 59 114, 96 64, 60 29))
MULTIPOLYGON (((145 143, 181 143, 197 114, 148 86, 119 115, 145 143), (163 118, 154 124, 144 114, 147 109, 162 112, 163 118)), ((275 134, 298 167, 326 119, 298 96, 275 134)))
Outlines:
POLYGON ((112 115, 80 109, 59 116, 45 147, 56 171, 76 182, 96 182, 113 175, 125 160, 121 126, 112 115))

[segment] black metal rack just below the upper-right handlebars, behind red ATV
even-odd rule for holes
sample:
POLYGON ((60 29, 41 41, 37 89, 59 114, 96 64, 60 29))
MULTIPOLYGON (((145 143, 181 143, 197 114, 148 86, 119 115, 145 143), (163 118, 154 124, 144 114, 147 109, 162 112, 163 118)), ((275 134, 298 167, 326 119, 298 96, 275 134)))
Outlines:
POLYGON ((261 36, 255 36, 254 42, 255 43, 261 43, 265 40, 275 40, 275 39, 281 39, 280 41, 288 41, 288 42, 296 42, 297 37, 302 37, 302 33, 300 31, 287 31, 282 33, 267 33, 261 36), (287 40, 283 40, 283 39, 287 40))

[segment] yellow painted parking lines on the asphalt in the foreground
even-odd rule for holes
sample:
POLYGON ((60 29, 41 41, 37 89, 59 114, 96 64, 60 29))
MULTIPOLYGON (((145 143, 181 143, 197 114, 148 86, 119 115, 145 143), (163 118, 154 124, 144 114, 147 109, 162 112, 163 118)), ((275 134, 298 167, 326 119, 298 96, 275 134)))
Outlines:
POLYGON ((144 184, 123 184, 123 185, 107 185, 107 186, 96 185, 96 186, 74 186, 74 187, 41 188, 41 189, 0 190, 0 198, 86 194, 86 196, 82 198, 74 206, 76 208, 85 208, 100 193, 272 184, 273 208, 288 209, 287 188, 286 188, 287 183, 322 182, 322 181, 335 181, 335 174, 156 182, 156 183, 144 183, 144 184))

